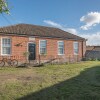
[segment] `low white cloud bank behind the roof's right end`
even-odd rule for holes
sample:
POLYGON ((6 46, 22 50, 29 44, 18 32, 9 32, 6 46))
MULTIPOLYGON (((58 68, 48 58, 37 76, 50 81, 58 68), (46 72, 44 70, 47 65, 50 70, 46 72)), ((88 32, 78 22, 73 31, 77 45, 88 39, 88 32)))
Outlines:
POLYGON ((81 37, 88 39, 87 45, 100 45, 100 32, 94 34, 83 34, 81 37))

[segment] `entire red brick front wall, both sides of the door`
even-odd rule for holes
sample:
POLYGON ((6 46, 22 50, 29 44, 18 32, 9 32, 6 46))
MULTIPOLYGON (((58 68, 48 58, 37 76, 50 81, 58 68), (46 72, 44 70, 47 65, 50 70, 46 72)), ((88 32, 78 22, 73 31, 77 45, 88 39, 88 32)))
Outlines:
MULTIPOLYGON (((19 37, 19 36, 0 36, 2 37, 9 37, 12 39, 12 58, 18 59, 19 61, 25 61, 25 57, 23 56, 24 52, 27 52, 28 42, 36 43, 36 59, 39 59, 39 40, 47 40, 47 55, 44 57, 42 56, 41 59, 50 59, 50 58, 57 58, 57 57, 65 57, 68 60, 75 57, 73 51, 73 42, 72 40, 60 40, 60 39, 46 39, 46 38, 35 38, 34 41, 29 41, 29 37, 19 37), (58 44, 57 41, 64 41, 64 56, 58 55, 58 44), (20 46, 16 46, 16 44, 21 43, 20 46)), ((0 41, 1 42, 1 41, 0 41)), ((82 41, 79 42, 79 54, 78 58, 82 58, 82 41)), ((0 43, 1 44, 1 43, 0 43)), ((83 43, 83 54, 85 53, 86 44, 83 43)), ((1 46, 0 46, 1 51, 1 46)))

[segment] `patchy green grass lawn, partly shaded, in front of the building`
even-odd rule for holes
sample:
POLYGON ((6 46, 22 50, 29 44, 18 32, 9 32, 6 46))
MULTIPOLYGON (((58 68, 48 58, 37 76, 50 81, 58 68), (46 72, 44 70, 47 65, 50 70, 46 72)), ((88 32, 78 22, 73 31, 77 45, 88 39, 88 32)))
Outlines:
POLYGON ((100 62, 0 68, 0 100, 100 100, 100 62))

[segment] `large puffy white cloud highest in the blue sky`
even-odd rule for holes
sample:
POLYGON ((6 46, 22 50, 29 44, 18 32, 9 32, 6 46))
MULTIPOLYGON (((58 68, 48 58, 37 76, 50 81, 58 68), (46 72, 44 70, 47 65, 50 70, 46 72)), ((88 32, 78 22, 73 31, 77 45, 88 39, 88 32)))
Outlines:
POLYGON ((82 16, 80 21, 85 23, 85 25, 81 26, 80 28, 82 30, 88 30, 92 26, 100 24, 100 12, 90 12, 87 15, 82 16))

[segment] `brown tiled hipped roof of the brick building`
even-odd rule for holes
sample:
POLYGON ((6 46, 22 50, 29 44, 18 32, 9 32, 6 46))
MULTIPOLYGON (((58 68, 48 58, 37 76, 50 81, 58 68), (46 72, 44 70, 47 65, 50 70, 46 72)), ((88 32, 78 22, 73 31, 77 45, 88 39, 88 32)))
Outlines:
POLYGON ((31 24, 17 24, 17 25, 12 25, 12 26, 1 27, 0 33, 85 40, 82 37, 71 34, 69 32, 65 32, 58 28, 31 25, 31 24))

